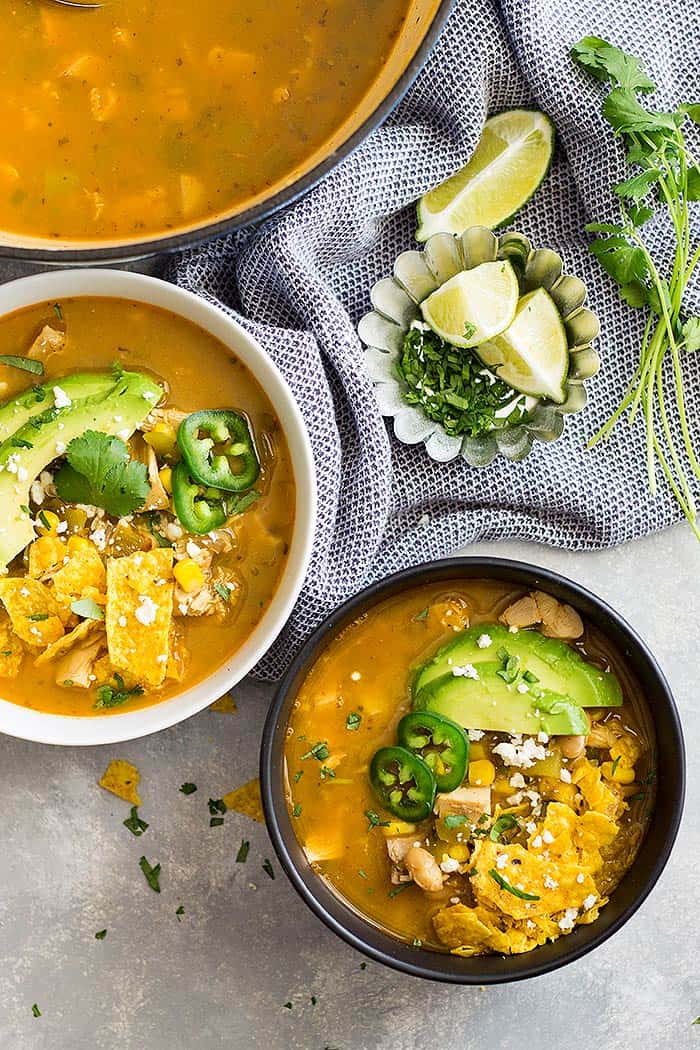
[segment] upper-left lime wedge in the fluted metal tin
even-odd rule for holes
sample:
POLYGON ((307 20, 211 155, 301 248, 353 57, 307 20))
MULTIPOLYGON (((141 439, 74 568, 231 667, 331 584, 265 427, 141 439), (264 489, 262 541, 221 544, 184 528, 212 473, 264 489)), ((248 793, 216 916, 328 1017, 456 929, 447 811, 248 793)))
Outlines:
POLYGON ((423 318, 453 346, 475 346, 505 332, 517 308, 517 277, 510 262, 462 270, 421 303, 423 318))

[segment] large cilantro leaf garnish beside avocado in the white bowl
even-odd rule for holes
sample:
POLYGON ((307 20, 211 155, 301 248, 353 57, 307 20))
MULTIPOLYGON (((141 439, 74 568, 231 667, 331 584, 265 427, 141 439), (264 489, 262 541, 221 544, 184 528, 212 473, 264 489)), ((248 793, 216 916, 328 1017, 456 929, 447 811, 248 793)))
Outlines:
POLYGON ((123 518, 143 506, 148 492, 148 471, 132 460, 121 438, 86 430, 66 449, 68 462, 56 475, 59 497, 65 503, 89 503, 123 518))

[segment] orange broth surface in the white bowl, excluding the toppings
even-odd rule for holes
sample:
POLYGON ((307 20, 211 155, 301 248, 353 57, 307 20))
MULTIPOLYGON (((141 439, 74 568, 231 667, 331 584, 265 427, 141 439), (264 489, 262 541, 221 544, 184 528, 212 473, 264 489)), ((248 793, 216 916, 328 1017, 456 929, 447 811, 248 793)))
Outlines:
MULTIPOLYGON (((44 324, 66 333, 64 349, 46 359, 44 381, 60 384, 72 370, 84 372, 87 362, 93 370, 110 369, 114 361, 125 370, 146 370, 165 382, 169 410, 245 410, 267 449, 260 499, 233 519, 234 548, 217 555, 219 567, 240 583, 235 608, 232 603, 225 615, 179 617, 189 653, 185 677, 130 697, 129 709, 142 707, 206 677, 235 653, 264 615, 284 571, 294 527, 295 485, 287 441, 264 391, 245 364, 213 336, 174 314, 110 298, 64 299, 58 308, 43 303, 2 318, 0 353, 25 353, 44 324)), ((0 366, 2 400, 26 386, 26 373, 0 366)), ((51 498, 42 506, 62 512, 51 498)), ((19 555, 9 571, 26 571, 25 559, 19 555)), ((25 654, 19 676, 0 678, 0 695, 54 714, 105 713, 96 711, 93 690, 57 685, 52 664, 34 666, 30 654, 25 654)))

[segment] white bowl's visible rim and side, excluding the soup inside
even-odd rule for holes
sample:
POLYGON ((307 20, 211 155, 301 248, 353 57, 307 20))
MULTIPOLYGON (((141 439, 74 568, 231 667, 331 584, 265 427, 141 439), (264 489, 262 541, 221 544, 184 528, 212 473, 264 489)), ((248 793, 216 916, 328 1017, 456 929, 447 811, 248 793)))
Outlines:
POLYGON ((189 718, 235 686, 267 652, 287 622, 306 574, 316 525, 316 475, 301 413, 260 344, 224 311, 155 277, 122 270, 64 270, 0 285, 0 317, 46 299, 87 295, 132 299, 169 310, 198 324, 235 353, 267 393, 287 436, 296 482, 296 518, 287 568, 270 608, 226 664, 177 696, 121 714, 81 718, 51 715, 0 698, 0 732, 41 743, 115 743, 147 736, 189 718))

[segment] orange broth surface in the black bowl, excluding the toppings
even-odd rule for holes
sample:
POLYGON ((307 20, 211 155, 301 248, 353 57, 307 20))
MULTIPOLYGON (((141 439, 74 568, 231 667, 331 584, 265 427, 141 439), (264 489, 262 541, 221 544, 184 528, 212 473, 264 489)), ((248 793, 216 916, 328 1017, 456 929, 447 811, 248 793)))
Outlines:
MULTIPOLYGON (((293 706, 285 769, 295 834, 317 874, 346 903, 408 943, 445 950, 432 920, 458 897, 469 900, 468 891, 457 886, 466 879, 448 879, 444 891, 437 896, 423 892, 411 882, 393 885, 381 824, 389 822, 386 835, 400 834, 400 830, 391 831, 396 818, 378 803, 368 766, 378 749, 397 742, 397 726, 411 710, 409 694, 417 666, 454 638, 466 617, 471 626, 493 625, 523 593, 501 582, 455 580, 415 587, 379 602, 328 644, 309 671, 293 706), (322 760, 315 760, 313 749, 319 742, 326 748, 321 751, 322 760), (380 824, 373 826, 375 817, 380 824)), ((600 892, 608 894, 632 863, 651 811, 653 731, 633 675, 600 632, 587 625, 575 647, 597 666, 612 667, 618 673, 623 705, 612 713, 603 712, 603 718, 624 726, 643 747, 634 794, 644 798, 629 802, 614 846, 603 850, 602 873, 596 876, 600 892)), ((596 724, 593 722, 593 729, 596 724)), ((479 742, 472 737, 472 759, 486 755, 496 762, 491 749, 497 734, 482 734, 481 738, 475 734, 475 738, 479 742)), ((501 766, 497 776, 503 776, 501 766)), ((514 793, 512 788, 506 788, 508 791, 514 793)), ((627 794, 632 797, 633 789, 627 794)), ((408 833, 409 841, 423 842, 422 826, 408 833)))

